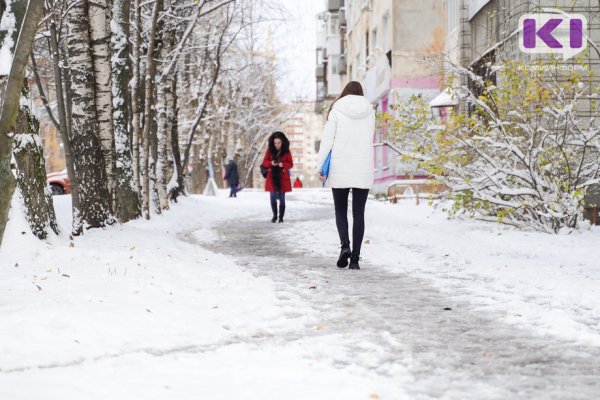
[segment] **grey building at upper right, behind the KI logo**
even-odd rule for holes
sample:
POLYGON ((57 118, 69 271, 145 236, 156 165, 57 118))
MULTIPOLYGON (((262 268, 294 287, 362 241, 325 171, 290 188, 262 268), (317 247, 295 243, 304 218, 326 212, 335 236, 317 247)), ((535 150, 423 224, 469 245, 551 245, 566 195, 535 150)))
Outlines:
MULTIPOLYGON (((548 54, 527 54, 520 50, 523 40, 519 19, 523 14, 547 12, 582 14, 588 26, 588 51, 577 58, 559 61, 583 64, 595 72, 591 86, 600 86, 600 7, 597 0, 445 0, 446 44, 449 60, 468 67, 484 78, 497 81, 493 65, 505 61, 547 61, 548 54)), ((559 57, 560 59, 560 57, 559 57)), ((465 83, 465 82, 463 82, 465 83)), ((590 102, 592 100, 590 99, 590 102)))

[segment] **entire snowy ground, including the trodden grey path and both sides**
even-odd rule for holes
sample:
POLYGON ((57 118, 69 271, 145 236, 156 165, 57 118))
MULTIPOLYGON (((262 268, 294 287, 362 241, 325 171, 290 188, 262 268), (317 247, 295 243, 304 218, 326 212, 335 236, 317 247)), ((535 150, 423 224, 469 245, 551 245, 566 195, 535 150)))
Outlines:
MULTIPOLYGON (((370 201, 338 270, 330 194, 184 198, 152 221, 0 250, 0 398, 593 398, 598 231, 370 201), (450 310, 446 310, 450 309, 450 310), (565 397, 565 395, 568 396, 565 397)), ((68 232, 68 197, 55 197, 68 232)))

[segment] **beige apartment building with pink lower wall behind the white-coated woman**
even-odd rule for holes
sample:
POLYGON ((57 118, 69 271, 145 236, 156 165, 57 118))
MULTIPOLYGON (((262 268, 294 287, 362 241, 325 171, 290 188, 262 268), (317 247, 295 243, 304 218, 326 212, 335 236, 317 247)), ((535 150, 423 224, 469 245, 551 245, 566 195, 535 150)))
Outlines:
MULTIPOLYGON (((432 99, 443 86, 446 9, 439 0, 346 0, 347 75, 378 112, 413 95, 432 99)), ((378 130, 374 144, 385 140, 378 130)), ((375 146, 376 192, 399 179, 424 179, 416 163, 375 146)))

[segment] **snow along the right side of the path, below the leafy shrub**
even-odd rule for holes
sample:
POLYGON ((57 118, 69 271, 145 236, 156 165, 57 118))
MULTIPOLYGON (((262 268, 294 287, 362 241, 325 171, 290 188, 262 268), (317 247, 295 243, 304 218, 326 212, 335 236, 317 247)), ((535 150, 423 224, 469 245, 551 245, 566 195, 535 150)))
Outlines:
MULTIPOLYGON (((329 194, 311 196, 329 200, 329 194)), ((331 222, 294 224, 290 237, 305 250, 332 258, 339 252, 331 222)), ((426 279, 539 334, 600 346, 599 242, 596 227, 549 235, 448 219, 423 201, 370 201, 362 265, 426 279)))

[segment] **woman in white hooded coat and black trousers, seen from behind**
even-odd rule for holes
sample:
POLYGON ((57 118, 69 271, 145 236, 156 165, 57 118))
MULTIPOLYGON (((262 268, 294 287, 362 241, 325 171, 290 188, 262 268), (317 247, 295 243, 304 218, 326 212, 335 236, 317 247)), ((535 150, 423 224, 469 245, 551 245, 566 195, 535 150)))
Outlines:
POLYGON ((363 95, 359 82, 346 85, 340 97, 329 108, 327 122, 317 157, 318 171, 331 150, 327 179, 322 182, 332 188, 335 222, 342 244, 337 266, 360 269, 360 248, 365 233, 365 205, 373 187, 373 134, 375 111, 363 95), (348 196, 352 190, 352 242, 348 234, 348 196))

